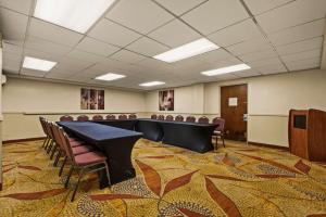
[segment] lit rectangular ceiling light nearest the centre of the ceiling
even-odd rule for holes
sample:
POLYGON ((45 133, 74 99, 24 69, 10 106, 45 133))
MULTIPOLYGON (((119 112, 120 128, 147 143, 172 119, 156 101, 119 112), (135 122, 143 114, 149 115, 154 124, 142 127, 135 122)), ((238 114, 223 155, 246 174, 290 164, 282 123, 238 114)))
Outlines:
POLYGON ((216 50, 220 47, 215 43, 209 41, 205 38, 198 39, 196 41, 192 41, 190 43, 186 43, 184 46, 180 46, 178 48, 172 49, 170 51, 166 51, 164 53, 161 53, 159 55, 153 56, 154 59, 173 63, 177 62, 187 58, 191 58, 195 55, 199 55, 212 50, 216 50))

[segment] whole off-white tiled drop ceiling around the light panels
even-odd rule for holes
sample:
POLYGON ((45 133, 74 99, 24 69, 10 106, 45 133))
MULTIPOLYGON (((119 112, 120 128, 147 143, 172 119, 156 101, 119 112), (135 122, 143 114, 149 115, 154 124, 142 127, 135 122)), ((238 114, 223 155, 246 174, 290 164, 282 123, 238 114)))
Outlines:
POLYGON ((235 79, 321 66, 326 0, 116 0, 85 34, 33 17, 35 0, 0 0, 7 74, 139 89, 235 79), (152 59, 206 37, 221 49, 175 63, 152 59), (48 72, 22 68, 23 56, 55 61, 48 72), (250 71, 205 77, 216 67, 250 71), (117 73, 127 77, 98 81, 117 73))

